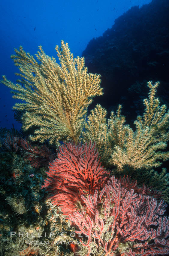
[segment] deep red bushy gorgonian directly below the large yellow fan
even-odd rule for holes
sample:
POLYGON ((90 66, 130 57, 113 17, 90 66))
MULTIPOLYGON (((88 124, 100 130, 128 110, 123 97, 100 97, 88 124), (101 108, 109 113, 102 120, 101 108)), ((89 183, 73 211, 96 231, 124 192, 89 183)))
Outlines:
POLYGON ((85 145, 66 143, 59 147, 58 157, 49 163, 48 178, 42 188, 52 193, 50 199, 64 214, 73 213, 81 195, 100 190, 109 172, 101 167, 95 143, 85 145))

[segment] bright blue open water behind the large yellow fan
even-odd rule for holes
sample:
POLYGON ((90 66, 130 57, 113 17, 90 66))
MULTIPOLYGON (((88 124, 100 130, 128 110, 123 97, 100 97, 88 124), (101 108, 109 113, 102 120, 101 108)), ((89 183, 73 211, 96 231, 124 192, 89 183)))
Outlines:
MULTIPOLYGON (((56 57, 55 46, 68 42, 74 56, 81 56, 89 41, 102 36, 114 20, 132 6, 150 0, 65 0, 65 1, 1 1, 0 2, 0 77, 16 82, 18 71, 10 56, 20 45, 34 55, 38 46, 49 56, 56 57)), ((125 22, 125 21, 124 21, 125 22)), ((14 120, 10 89, 0 86, 0 126, 20 129, 14 120)))

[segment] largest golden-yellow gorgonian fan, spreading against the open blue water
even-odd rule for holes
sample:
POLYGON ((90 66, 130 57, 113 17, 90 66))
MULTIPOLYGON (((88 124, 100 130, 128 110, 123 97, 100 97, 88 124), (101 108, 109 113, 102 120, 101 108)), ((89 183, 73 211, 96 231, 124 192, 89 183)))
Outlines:
POLYGON ((84 58, 74 58, 67 43, 56 46, 60 65, 55 58, 47 56, 42 47, 36 55, 15 50, 12 55, 21 77, 17 84, 3 76, 2 83, 12 89, 16 103, 14 109, 24 110, 23 130, 36 126, 33 141, 49 139, 59 145, 69 139, 78 141, 86 118, 87 107, 96 95, 102 95, 100 75, 87 72, 84 58))

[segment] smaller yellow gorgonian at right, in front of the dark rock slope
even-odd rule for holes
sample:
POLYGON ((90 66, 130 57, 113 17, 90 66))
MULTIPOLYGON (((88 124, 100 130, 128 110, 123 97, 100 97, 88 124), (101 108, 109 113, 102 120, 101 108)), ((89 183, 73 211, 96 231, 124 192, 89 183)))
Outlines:
POLYGON ((135 131, 125 124, 121 105, 116 115, 111 113, 108 122, 107 112, 100 105, 91 111, 83 133, 84 141, 96 142, 104 166, 115 165, 119 171, 125 167, 150 170, 160 166, 160 160, 169 158, 169 152, 163 151, 169 139, 169 111, 166 112, 166 106, 160 106, 159 99, 155 98, 159 82, 147 85, 149 98, 144 100, 143 117, 138 116, 134 122, 135 131))

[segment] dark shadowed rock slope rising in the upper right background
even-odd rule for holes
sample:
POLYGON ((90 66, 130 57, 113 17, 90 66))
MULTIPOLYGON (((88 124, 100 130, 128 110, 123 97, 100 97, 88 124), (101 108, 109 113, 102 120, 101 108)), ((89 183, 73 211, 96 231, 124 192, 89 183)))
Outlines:
MULTIPOLYGON (((144 108, 149 80, 160 81, 158 96, 168 102, 169 1, 152 0, 132 7, 115 20, 103 36, 93 38, 83 51, 89 72, 101 74, 104 95, 100 103, 110 111, 122 104, 122 112, 135 120, 144 108)), ((127 118, 128 120, 128 118, 127 118)))

